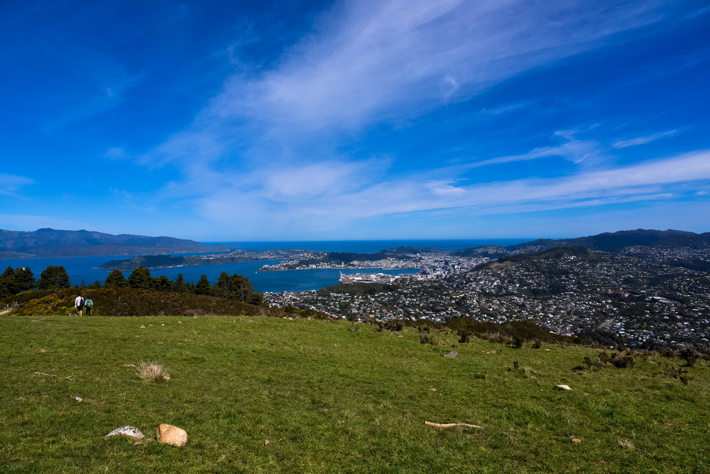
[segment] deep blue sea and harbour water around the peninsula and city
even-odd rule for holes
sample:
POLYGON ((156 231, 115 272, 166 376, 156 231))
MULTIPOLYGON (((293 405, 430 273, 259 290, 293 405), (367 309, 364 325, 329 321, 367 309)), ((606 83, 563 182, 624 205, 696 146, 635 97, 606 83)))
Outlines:
MULTIPOLYGON (((303 248, 316 252, 353 252, 373 253, 386 248, 402 246, 418 248, 437 248, 439 250, 460 250, 461 248, 479 246, 511 246, 516 243, 532 239, 476 239, 476 240, 439 240, 439 241, 280 241, 280 242, 207 242, 222 243, 232 249, 243 250, 269 250, 274 248, 303 248)), ((97 280, 103 282, 109 270, 99 269, 99 265, 109 260, 123 260, 135 255, 102 256, 102 257, 74 257, 74 258, 8 258, 0 260, 0 272, 11 266, 12 268, 29 267, 35 278, 40 277, 42 270, 49 265, 62 265, 69 274, 72 285, 82 282, 89 285, 97 280)), ((217 281, 222 272, 229 275, 237 273, 249 278, 257 292, 300 292, 304 290, 320 290, 330 285, 337 285, 340 270, 287 270, 280 272, 257 272, 264 264, 273 264, 279 260, 262 260, 259 262, 224 263, 222 265, 195 265, 178 268, 161 268, 151 270, 153 277, 165 275, 170 280, 182 273, 187 281, 197 282, 204 274, 211 283, 217 281)), ((342 270, 343 273, 358 272, 383 272, 391 275, 401 273, 416 273, 417 270, 382 270, 371 268, 366 270, 342 270)), ((128 277, 130 272, 124 272, 128 277)))

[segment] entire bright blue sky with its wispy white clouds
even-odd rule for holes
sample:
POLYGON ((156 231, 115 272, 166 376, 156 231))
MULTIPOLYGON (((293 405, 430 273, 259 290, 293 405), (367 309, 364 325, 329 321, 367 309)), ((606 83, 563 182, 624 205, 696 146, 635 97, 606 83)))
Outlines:
POLYGON ((705 1, 0 2, 0 228, 710 231, 705 1))

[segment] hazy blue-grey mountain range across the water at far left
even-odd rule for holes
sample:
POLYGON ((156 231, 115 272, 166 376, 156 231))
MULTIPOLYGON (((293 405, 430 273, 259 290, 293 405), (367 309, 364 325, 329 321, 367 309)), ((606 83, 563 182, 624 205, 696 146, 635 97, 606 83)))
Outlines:
POLYGON ((146 237, 91 231, 0 230, 0 258, 64 258, 99 255, 160 255, 165 253, 198 253, 229 250, 222 245, 173 237, 146 237))

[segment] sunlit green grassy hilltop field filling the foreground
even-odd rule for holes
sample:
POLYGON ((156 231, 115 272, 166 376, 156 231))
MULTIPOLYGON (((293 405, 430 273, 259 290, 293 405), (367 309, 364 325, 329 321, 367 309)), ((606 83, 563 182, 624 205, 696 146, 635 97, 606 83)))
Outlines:
POLYGON ((678 359, 572 370, 598 351, 435 338, 265 316, 0 316, 0 472, 710 472, 705 360, 684 385, 678 359), (141 361, 170 380, 122 366, 141 361), (190 441, 103 437, 161 423, 190 441))

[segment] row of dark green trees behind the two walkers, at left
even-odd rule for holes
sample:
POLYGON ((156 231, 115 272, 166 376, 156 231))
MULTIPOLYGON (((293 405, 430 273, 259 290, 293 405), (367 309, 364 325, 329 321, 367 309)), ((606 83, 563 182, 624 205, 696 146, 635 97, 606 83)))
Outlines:
MULTIPOLYGON (((40 279, 35 280, 32 270, 29 268, 8 267, 0 275, 0 297, 9 297, 27 290, 56 290, 70 287, 69 275, 61 265, 50 265, 41 273, 40 279)), ((82 287, 84 287, 82 283, 82 287)), ((101 282, 98 280, 87 288, 100 288, 101 282)), ((263 297, 260 293, 254 292, 251 282, 241 275, 228 275, 222 272, 217 282, 212 285, 207 279, 207 275, 202 275, 197 284, 185 281, 182 273, 169 280, 165 275, 151 277, 151 272, 141 265, 134 268, 128 278, 121 270, 114 270, 109 273, 104 282, 107 288, 136 288, 138 290, 152 290, 158 292, 178 292, 190 294, 207 294, 211 296, 236 299, 241 302, 260 304, 263 297)))

